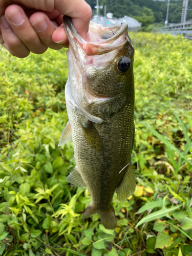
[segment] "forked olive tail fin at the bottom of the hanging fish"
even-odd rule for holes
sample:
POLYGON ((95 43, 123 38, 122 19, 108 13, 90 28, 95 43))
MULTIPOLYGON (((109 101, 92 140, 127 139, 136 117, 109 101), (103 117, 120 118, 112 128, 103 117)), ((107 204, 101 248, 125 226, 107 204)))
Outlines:
POLYGON ((101 223, 106 229, 115 229, 117 226, 115 210, 111 205, 110 209, 106 210, 96 210, 93 205, 90 203, 88 207, 85 209, 82 220, 89 218, 93 214, 99 214, 101 217, 101 223))

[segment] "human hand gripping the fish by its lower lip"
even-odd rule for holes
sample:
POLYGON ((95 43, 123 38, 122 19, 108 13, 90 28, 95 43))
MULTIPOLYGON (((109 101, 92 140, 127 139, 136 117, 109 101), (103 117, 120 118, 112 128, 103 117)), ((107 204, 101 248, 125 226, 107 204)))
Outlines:
POLYGON ((89 30, 92 12, 84 0, 0 1, 0 44, 19 58, 68 47, 63 15, 72 18, 82 37, 89 30))

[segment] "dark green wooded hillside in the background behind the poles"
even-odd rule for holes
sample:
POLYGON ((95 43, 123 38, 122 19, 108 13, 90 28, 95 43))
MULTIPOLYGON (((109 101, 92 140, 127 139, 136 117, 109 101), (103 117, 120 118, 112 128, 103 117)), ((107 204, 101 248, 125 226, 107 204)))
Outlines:
MULTIPOLYGON (((95 10, 96 0, 87 0, 92 9, 95 10)), ((165 22, 167 11, 167 0, 100 0, 99 5, 106 5, 107 12, 112 12, 115 17, 131 16, 139 20, 142 26, 147 26, 153 22, 165 22)), ((169 23, 179 23, 181 21, 181 11, 183 0, 170 0, 169 23)), ((188 1, 188 9, 192 9, 192 0, 188 1)), ((100 10, 103 15, 103 9, 100 10)), ((187 11, 187 20, 192 18, 192 11, 187 11)))

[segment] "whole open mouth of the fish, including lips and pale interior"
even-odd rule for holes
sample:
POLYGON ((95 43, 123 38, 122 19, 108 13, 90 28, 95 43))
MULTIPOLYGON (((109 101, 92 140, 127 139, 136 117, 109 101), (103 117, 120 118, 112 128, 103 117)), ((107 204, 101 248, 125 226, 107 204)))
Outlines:
POLYGON ((122 48, 129 40, 127 23, 108 28, 90 23, 85 39, 78 34, 70 17, 63 16, 63 25, 75 55, 77 50, 79 54, 87 56, 106 54, 122 48))

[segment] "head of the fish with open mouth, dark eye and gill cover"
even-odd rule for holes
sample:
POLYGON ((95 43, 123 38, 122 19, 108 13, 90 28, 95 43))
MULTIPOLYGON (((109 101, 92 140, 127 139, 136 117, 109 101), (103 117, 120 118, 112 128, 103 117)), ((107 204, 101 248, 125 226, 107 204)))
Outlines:
POLYGON ((127 24, 105 28, 90 23, 84 39, 69 17, 63 17, 63 24, 70 43, 69 79, 77 104, 85 109, 116 97, 119 111, 125 99, 134 97, 134 47, 127 24))

